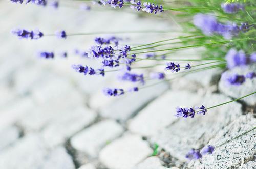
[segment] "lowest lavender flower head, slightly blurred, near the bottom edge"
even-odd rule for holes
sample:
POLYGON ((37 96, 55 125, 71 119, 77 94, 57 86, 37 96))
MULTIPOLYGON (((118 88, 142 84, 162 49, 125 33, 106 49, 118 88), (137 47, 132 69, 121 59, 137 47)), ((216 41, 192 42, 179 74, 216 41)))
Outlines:
POLYGON ((214 146, 211 145, 207 145, 204 148, 202 148, 201 152, 199 150, 195 150, 195 149, 191 149, 187 154, 186 154, 186 158, 188 160, 197 160, 202 158, 203 155, 209 153, 212 154, 212 152, 214 152, 214 146))

